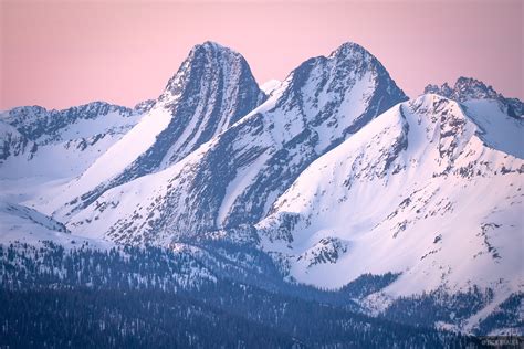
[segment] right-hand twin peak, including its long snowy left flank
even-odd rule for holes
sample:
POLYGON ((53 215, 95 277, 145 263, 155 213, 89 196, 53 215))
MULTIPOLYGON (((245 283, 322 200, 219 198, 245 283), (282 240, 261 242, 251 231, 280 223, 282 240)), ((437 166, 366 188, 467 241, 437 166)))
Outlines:
POLYGON ((254 223, 307 165, 404 99, 369 52, 344 44, 304 62, 264 104, 189 157, 106 191, 69 224, 139 243, 254 223))

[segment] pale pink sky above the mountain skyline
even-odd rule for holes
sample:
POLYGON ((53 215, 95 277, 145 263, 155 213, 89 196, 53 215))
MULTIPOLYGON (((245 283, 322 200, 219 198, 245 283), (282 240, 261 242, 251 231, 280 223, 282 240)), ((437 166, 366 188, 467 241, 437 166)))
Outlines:
POLYGON ((156 98, 206 40, 259 83, 354 41, 410 96, 464 75, 524 99, 522 23, 520 0, 0 0, 0 109, 156 98))

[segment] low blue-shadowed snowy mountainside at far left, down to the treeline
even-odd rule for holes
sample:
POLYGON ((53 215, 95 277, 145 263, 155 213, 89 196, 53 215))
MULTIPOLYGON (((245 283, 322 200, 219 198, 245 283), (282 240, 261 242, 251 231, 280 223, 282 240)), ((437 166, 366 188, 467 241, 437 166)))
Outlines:
POLYGON ((21 202, 48 195, 56 183, 85 171, 139 121, 142 112, 94 102, 63 110, 25 106, 0 113, 2 241, 69 244, 83 240, 21 202))

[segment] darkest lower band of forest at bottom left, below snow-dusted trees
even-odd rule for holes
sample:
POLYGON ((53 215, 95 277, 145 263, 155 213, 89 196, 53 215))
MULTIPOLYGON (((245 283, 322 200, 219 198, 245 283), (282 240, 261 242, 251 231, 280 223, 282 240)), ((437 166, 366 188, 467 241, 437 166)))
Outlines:
POLYGON ((195 299, 160 290, 1 290, 0 347, 260 348, 293 339, 195 299))

